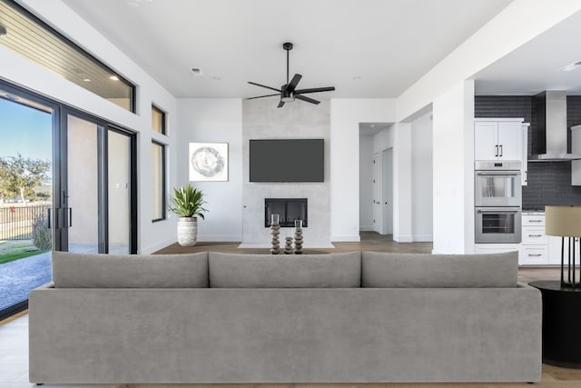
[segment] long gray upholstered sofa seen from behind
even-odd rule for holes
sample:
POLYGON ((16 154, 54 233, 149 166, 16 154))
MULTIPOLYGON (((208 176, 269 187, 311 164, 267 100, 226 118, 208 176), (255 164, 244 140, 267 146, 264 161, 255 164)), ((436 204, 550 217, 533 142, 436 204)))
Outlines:
POLYGON ((32 383, 537 382, 517 254, 53 253, 32 383))

